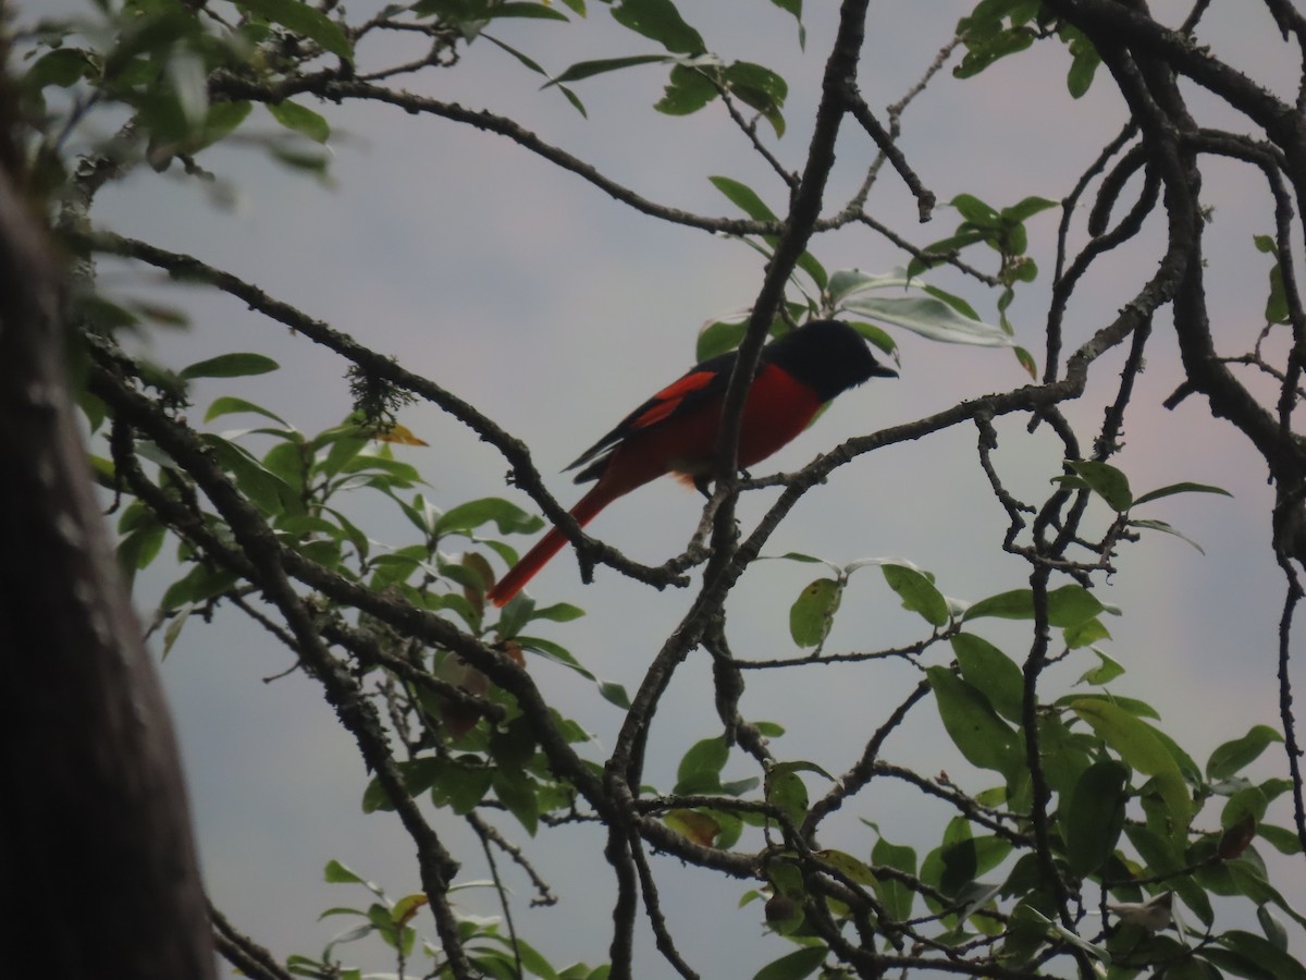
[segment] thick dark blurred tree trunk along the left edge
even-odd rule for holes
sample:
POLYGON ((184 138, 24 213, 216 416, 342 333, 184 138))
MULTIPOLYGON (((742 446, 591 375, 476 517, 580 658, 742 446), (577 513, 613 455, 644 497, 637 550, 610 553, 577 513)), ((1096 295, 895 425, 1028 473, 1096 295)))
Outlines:
POLYGON ((10 105, 0 91, 0 949, 56 980, 214 977, 172 725, 93 494, 10 105))

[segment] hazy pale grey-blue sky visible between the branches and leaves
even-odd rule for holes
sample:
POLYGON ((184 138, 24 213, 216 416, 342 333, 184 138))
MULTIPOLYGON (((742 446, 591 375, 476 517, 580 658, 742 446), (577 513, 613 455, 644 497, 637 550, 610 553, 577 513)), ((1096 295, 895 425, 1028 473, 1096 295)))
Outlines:
MULTIPOLYGON (((31 14, 40 4, 29 0, 18 7, 31 14)), ((350 17, 360 18, 371 7, 351 4, 350 17)), ((790 128, 776 149, 790 167, 803 158, 833 29, 827 9, 833 4, 808 7, 804 52, 793 18, 772 4, 682 4, 718 54, 759 61, 789 80, 790 128)), ((859 80, 872 107, 901 97, 968 7, 943 0, 872 4, 859 80)), ((1152 7, 1161 16, 1183 9, 1174 3, 1152 7)), ((1175 20, 1173 13, 1169 17, 1175 20)), ((652 50, 615 30, 598 3, 592 4, 589 22, 580 26, 521 21, 492 33, 552 71, 584 57, 652 50)), ((1294 90, 1292 51, 1279 42, 1260 5, 1249 9, 1217 0, 1203 39, 1266 84, 1294 90)), ((363 64, 368 59, 372 67, 380 64, 383 54, 364 48, 363 64)), ((1033 193, 1059 199, 1068 191, 1124 116, 1105 76, 1088 97, 1074 102, 1063 84, 1067 65, 1064 50, 1049 43, 977 80, 963 84, 947 73, 936 78, 908 114, 901 145, 939 200, 968 192, 1006 205, 1033 193)), ((556 91, 541 91, 538 76, 499 48, 477 43, 457 68, 405 84, 422 94, 511 115, 656 201, 729 216, 731 206, 707 180, 725 174, 751 183, 782 210, 778 182, 718 108, 688 119, 669 119, 649 108, 663 82, 661 68, 580 82, 576 90, 589 110, 584 119, 556 91)), ((269 165, 257 149, 222 149, 201 162, 234 191, 236 206, 215 209, 193 180, 176 174, 161 179, 145 171, 106 192, 98 218, 124 234, 191 252, 255 281, 393 354, 524 438, 546 473, 569 463, 635 404, 682 372, 692 362, 700 323, 748 304, 757 290, 761 260, 752 250, 644 218, 502 137, 384 107, 313 107, 336 129, 332 187, 269 165)), ((1203 122, 1228 123, 1218 107, 1203 111, 1203 122)), ((272 128, 260 111, 246 124, 248 132, 272 128)), ((870 142, 849 127, 838 144, 828 206, 842 204, 871 155, 870 142)), ((1229 353, 1241 353, 1262 323, 1268 268, 1252 250, 1251 235, 1271 229, 1271 214, 1256 180, 1233 167, 1213 167, 1204 189, 1216 205, 1207 242, 1217 336, 1229 353)), ((942 238, 957 221, 955 212, 940 208, 931 226, 917 227, 914 201, 888 170, 870 209, 919 243, 942 238)), ((1021 290, 1012 307, 1017 340, 1036 357, 1041 355, 1055 214, 1030 222, 1032 253, 1043 274, 1021 290)), ((1070 348, 1113 318, 1152 273, 1160 253, 1157 231, 1151 229, 1144 244, 1102 263, 1084 282, 1067 321, 1070 348)), ((812 250, 829 269, 876 272, 904 261, 896 248, 865 229, 823 238, 812 250)), ((115 276, 107 285, 138 291, 131 280, 115 276)), ((986 319, 994 318, 995 295, 957 277, 940 281, 961 291, 986 319)), ((153 338, 161 359, 184 365, 232 349, 261 350, 283 365, 272 375, 273 384, 266 379, 223 384, 222 393, 268 405, 306 431, 325 427, 347 410, 342 366, 332 357, 249 316, 238 303, 193 291, 170 295, 192 311, 193 324, 187 332, 153 338)), ((1275 642, 1284 585, 1268 547, 1271 497, 1263 464, 1228 426, 1211 421, 1199 399, 1188 399, 1174 412, 1161 408, 1179 374, 1168 324, 1157 327, 1118 464, 1136 490, 1194 480, 1221 485, 1235 498, 1181 497, 1147 515, 1187 532, 1205 555, 1164 536, 1128 547, 1119 558, 1119 572, 1101 591, 1104 600, 1124 612, 1110 621, 1115 639, 1105 649, 1128 670, 1115 690, 1161 708, 1165 730, 1204 762, 1218 742, 1251 724, 1277 727, 1275 642)), ((767 464, 767 472, 801 466, 848 436, 1025 380, 1008 351, 943 346, 905 333, 896 337, 901 378, 878 380, 841 399, 810 433, 767 464)), ((1119 357, 1106 358, 1097 368, 1098 385, 1068 409, 1083 423, 1081 435, 1091 438, 1101 418, 1118 363, 1119 357)), ((197 404, 202 408, 217 391, 200 385, 197 404)), ((503 460, 473 434, 423 405, 405 413, 404 422, 431 443, 427 449, 405 451, 405 457, 423 470, 436 503, 448 507, 505 494, 529 506, 504 486, 503 460)), ((1017 495, 1041 499, 1047 480, 1059 472, 1058 444, 1046 434, 1025 435, 1019 423, 999 430, 996 460, 1003 477, 1017 495)), ((973 429, 963 427, 861 457, 795 508, 768 553, 797 550, 840 563, 900 555, 934 571, 947 595, 972 601, 1020 587, 1028 571, 1000 551, 1006 524, 976 464, 974 440, 973 429)), ((563 476, 552 489, 564 502, 577 495, 563 476)), ((759 494, 746 502, 741 508, 746 528, 769 499, 759 494)), ((699 503, 696 495, 667 481, 622 500, 592 531, 631 557, 657 563, 687 541, 699 503)), ((406 527, 397 514, 372 516, 376 538, 406 544, 406 527)), ((737 655, 759 659, 794 652, 788 608, 811 578, 811 566, 786 562, 765 562, 750 571, 730 601, 737 655)), ((874 570, 853 581, 831 649, 887 647, 919 635, 919 621, 897 609, 874 570)), ((146 576, 145 609, 165 584, 166 578, 146 576)), ((592 587, 582 587, 565 553, 530 591, 543 602, 584 606, 586 618, 551 635, 594 673, 629 690, 692 596, 692 591, 652 592, 606 568, 598 570, 592 587)), ((1021 656, 1019 634, 986 635, 996 642, 1015 636, 1007 648, 1021 656)), ((718 732, 704 660, 691 657, 654 728, 658 751, 650 759, 648 781, 663 789, 670 788, 683 750, 718 732)), ((340 920, 315 923, 320 909, 367 902, 362 891, 320 883, 321 868, 330 858, 380 881, 393 895, 418 887, 411 847, 397 821, 359 813, 362 764, 317 689, 299 676, 261 682, 289 665, 274 642, 225 618, 210 629, 189 626, 162 666, 182 733, 210 894, 239 928, 278 955, 311 953, 329 938, 340 920)), ((1089 665, 1075 660, 1054 682, 1068 685, 1089 665)), ((533 665, 533 672, 564 711, 611 745, 619 724, 615 708, 575 674, 547 664, 533 665)), ((774 746, 781 758, 814 759, 838 772, 857 758, 866 733, 916 678, 912 670, 883 665, 755 674, 748 678, 743 711, 751 719, 786 725, 789 734, 774 746)), ((970 789, 989 784, 939 741, 931 707, 917 715, 891 740, 889 759, 926 774, 947 770, 970 789)), ((734 775, 751 772, 742 762, 733 768, 734 775)), ((1282 775, 1281 753, 1267 754, 1260 771, 1282 775)), ((865 818, 880 823, 891 839, 916 844, 923 856, 949 815, 921 810, 917 800, 893 793, 863 796, 868 798, 858 797, 832 823, 827 845, 838 844, 835 835, 846 830, 849 847, 865 849, 868 840, 857 825, 865 818), (912 804, 909 811, 905 804, 912 804)), ((505 828, 517 830, 511 821, 505 828)), ((462 840, 457 826, 441 830, 462 840)), ((603 959, 611 882, 593 839, 564 831, 539 841, 530 853, 563 895, 563 904, 530 915, 521 909, 518 925, 556 964, 603 959), (537 916, 539 921, 532 921, 537 916)), ((483 874, 471 868, 469 873, 483 874)), ((674 864, 660 865, 658 873, 673 933, 705 976, 726 975, 724 962, 734 962, 731 972, 744 975, 741 959, 755 970, 786 951, 780 939, 756 941, 763 932, 756 907, 733 911, 747 885, 679 870, 674 864), (747 950, 741 951, 738 943, 748 943, 747 950)), ((1298 864, 1277 870, 1277 881, 1298 898, 1306 891, 1298 864)), ((516 889, 524 902, 526 885, 517 882, 516 889)), ((460 907, 494 912, 488 892, 464 892, 460 907)), ((650 950, 646 937, 641 942, 650 950)), ((648 975, 661 973, 658 966, 648 975)))

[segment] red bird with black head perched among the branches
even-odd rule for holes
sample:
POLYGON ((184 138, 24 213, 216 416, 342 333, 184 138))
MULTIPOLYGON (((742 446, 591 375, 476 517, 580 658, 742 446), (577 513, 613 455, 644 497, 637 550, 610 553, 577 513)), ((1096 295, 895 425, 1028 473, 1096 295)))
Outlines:
MULTIPOLYGON (((597 480, 572 507, 581 525, 618 497, 663 473, 700 489, 712 474, 730 372, 737 351, 696 365, 645 401, 567 469, 576 482, 597 480)), ((812 320, 761 349, 739 427, 739 468, 771 456, 798 435, 827 401, 871 378, 896 378, 855 329, 841 320, 812 320)), ((490 601, 504 605, 562 550, 567 537, 551 528, 499 583, 490 601)))

